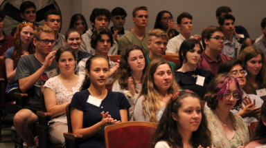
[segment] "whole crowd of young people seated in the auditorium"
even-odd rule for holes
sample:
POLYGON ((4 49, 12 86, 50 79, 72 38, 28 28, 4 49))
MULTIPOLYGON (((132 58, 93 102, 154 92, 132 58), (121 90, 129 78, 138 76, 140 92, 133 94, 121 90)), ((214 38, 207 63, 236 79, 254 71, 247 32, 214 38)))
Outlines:
POLYGON ((219 27, 206 26, 194 36, 188 12, 175 22, 163 10, 148 30, 148 8, 138 6, 132 11, 134 26, 126 30, 123 8, 94 8, 92 28, 82 14, 74 14, 62 35, 57 10, 48 10, 42 25, 35 22, 33 2, 24 1, 20 11, 24 21, 13 29, 14 37, 3 32, 0 13, 0 59, 6 64, 8 101, 15 100, 15 93, 28 94, 26 107, 14 117, 27 147, 37 147, 30 126, 41 110, 42 85, 52 114, 48 142, 62 147, 67 105, 73 134, 83 137, 79 147, 105 147, 103 129, 128 121, 158 123, 150 147, 266 144, 266 19, 261 22, 263 37, 251 46, 247 30, 234 25, 236 18, 226 6, 216 11, 219 27), (179 63, 166 61, 166 56, 179 63), (252 122, 258 126, 249 137, 252 122))

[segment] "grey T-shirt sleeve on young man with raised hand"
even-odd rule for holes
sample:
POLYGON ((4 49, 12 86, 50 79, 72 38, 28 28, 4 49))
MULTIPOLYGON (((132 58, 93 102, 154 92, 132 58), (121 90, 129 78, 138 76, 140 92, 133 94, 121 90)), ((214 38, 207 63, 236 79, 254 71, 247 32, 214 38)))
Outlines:
POLYGON ((26 56, 22 56, 17 63, 17 72, 15 75, 15 81, 19 80, 19 78, 26 78, 30 76, 30 67, 26 63, 26 56))

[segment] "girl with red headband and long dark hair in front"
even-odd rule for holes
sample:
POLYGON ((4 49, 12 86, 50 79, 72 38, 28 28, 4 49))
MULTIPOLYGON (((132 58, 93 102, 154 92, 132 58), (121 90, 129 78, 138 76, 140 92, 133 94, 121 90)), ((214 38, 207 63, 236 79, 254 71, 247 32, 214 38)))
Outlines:
POLYGON ((199 96, 190 90, 175 93, 154 132, 152 148, 209 148, 211 131, 199 101, 199 96))

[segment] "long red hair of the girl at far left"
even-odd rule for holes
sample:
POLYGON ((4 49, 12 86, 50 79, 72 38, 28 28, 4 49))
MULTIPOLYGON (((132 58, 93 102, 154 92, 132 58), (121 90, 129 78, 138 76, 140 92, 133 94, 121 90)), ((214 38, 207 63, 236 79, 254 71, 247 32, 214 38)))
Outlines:
MULTIPOLYGON (((13 63, 14 68, 17 67, 17 61, 19 61, 22 55, 20 32, 22 28, 25 28, 26 26, 30 26, 30 28, 33 28, 33 30, 36 29, 33 23, 20 23, 17 26, 17 30, 14 35, 14 51, 12 53, 12 58, 14 59, 14 63, 13 63)), ((31 41, 30 44, 28 45, 28 54, 34 54, 34 53, 35 53, 35 46, 33 45, 33 41, 31 41)))

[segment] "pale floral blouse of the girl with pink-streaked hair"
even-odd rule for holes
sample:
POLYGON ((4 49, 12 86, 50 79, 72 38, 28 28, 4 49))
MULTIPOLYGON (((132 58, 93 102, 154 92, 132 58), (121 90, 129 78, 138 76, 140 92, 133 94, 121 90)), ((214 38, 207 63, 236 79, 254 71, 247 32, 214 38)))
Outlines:
POLYGON ((218 116, 212 109, 206 111, 209 129, 211 130, 211 138, 216 148, 237 148, 244 146, 249 142, 249 130, 245 121, 240 117, 229 112, 233 120, 233 127, 236 129, 232 139, 228 139, 224 134, 224 129, 220 123, 218 116))

